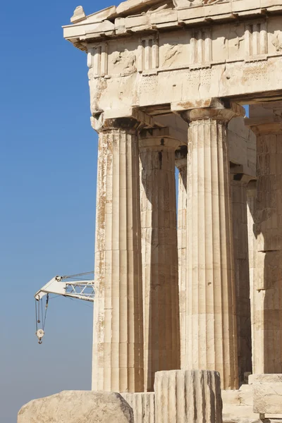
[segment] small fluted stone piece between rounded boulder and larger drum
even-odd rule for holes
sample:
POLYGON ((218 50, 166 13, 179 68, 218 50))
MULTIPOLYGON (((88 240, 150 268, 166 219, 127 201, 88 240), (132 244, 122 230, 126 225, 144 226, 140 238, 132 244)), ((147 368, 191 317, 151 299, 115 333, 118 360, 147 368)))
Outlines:
POLYGON ((121 393, 133 409, 134 423, 154 423, 154 392, 121 393))

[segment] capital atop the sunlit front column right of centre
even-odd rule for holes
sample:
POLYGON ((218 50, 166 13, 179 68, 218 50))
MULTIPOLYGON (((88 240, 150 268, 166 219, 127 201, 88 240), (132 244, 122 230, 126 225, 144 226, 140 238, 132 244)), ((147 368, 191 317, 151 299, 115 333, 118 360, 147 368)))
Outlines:
POLYGON ((180 111, 184 121, 198 121, 202 119, 214 119, 228 123, 232 118, 245 116, 245 109, 234 102, 222 102, 220 99, 211 99, 210 102, 192 102, 186 105, 186 109, 180 111))

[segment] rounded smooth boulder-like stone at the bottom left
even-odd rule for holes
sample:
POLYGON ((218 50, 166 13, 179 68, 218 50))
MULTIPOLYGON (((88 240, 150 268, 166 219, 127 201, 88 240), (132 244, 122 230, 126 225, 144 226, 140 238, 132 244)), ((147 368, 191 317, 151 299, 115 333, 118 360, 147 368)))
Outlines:
POLYGON ((134 417, 119 393, 63 391, 24 405, 18 423, 134 423, 134 417))

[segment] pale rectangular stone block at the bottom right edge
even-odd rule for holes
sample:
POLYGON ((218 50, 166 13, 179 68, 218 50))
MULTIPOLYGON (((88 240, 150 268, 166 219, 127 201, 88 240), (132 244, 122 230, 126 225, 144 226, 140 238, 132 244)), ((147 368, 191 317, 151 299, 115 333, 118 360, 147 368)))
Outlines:
POLYGON ((254 412, 282 413, 282 374, 253 374, 254 412))

